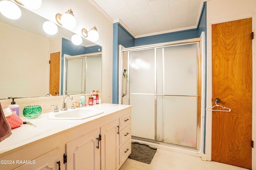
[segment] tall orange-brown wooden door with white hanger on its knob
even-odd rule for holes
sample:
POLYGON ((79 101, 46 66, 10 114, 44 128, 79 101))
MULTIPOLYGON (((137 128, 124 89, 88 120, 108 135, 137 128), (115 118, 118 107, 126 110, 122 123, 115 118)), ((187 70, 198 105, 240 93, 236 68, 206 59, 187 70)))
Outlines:
POLYGON ((212 160, 252 168, 252 18, 212 25, 212 160))

